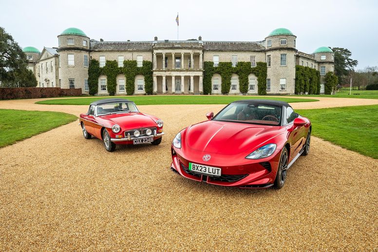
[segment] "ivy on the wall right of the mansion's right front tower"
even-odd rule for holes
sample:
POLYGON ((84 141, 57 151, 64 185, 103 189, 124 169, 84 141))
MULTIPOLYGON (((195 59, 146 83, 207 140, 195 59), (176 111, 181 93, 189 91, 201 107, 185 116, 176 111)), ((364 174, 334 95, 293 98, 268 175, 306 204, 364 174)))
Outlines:
POLYGON ((320 72, 308 66, 295 66, 295 94, 320 94, 320 72))

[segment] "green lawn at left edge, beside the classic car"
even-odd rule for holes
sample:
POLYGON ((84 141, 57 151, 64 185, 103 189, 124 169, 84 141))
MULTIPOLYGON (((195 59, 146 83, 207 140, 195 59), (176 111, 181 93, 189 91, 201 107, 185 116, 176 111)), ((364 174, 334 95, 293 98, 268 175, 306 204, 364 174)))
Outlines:
POLYGON ((73 122, 74 115, 61 112, 0 109, 0 147, 73 122))

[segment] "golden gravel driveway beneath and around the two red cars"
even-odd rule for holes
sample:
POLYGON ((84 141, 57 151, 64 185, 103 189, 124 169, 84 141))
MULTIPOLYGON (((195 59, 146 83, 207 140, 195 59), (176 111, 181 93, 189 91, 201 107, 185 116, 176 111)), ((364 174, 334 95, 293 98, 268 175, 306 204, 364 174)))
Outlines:
MULTIPOLYGON (((313 137, 310 154, 278 191, 218 187, 172 173, 175 134, 223 106, 139 106, 164 120, 159 146, 108 153, 98 139, 85 140, 76 121, 1 148, 0 251, 378 250, 373 158, 313 137)), ((30 100, 0 101, 0 108, 76 116, 87 110, 30 100)))

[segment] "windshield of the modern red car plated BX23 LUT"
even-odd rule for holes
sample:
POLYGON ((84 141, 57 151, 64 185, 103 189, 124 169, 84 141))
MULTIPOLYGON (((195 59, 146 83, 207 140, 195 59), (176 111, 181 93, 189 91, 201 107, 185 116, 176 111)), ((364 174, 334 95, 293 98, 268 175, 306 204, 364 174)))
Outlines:
POLYGON ((231 103, 213 120, 263 125, 280 125, 282 107, 263 103, 231 103))

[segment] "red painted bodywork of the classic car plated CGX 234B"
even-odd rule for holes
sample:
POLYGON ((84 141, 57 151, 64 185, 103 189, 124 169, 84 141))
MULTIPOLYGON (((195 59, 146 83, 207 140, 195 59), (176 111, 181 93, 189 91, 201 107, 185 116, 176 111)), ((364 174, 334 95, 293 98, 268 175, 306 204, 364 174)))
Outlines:
MULTIPOLYGON (((115 138, 115 135, 125 136, 124 132, 137 128, 149 128, 156 127, 157 132, 163 132, 163 127, 159 128, 156 125, 156 121, 159 118, 151 116, 141 112, 121 113, 121 114, 108 114, 104 116, 91 116, 88 114, 80 114, 80 124, 84 123, 88 133, 102 140, 102 130, 106 129, 111 138, 115 138), (113 133, 113 125, 118 124, 121 127, 121 131, 117 134, 113 133)), ((161 136, 156 136, 153 140, 158 139, 161 136)), ((116 144, 132 144, 131 141, 117 141, 116 144)))

